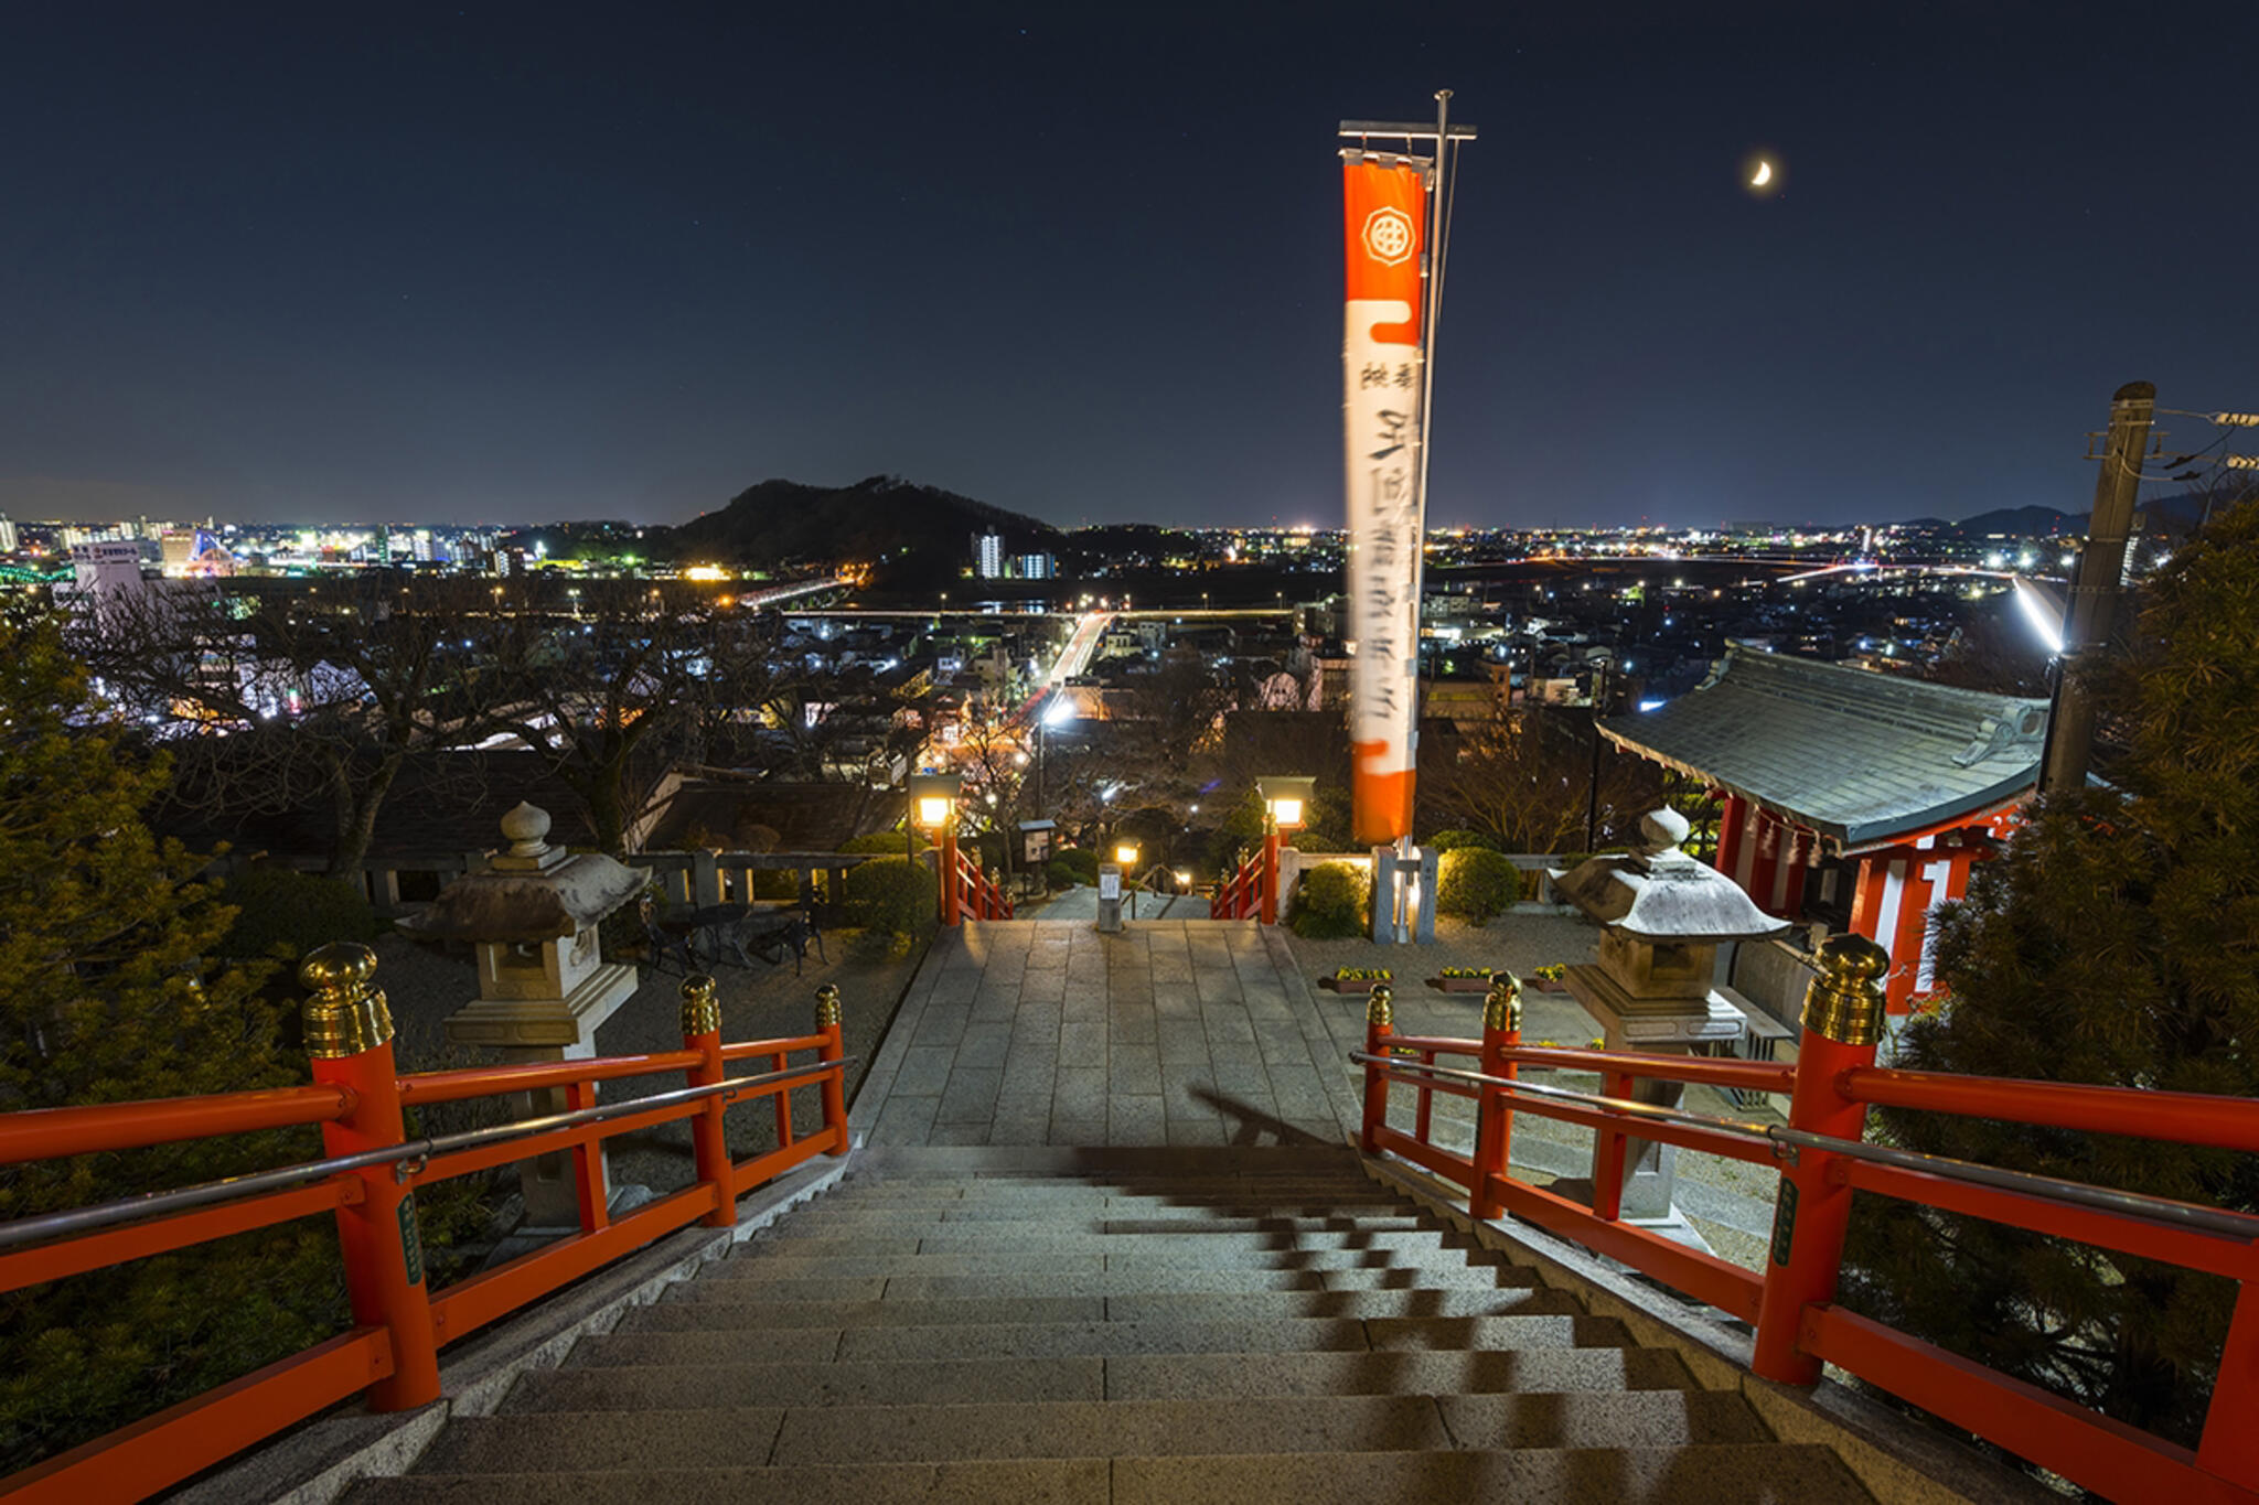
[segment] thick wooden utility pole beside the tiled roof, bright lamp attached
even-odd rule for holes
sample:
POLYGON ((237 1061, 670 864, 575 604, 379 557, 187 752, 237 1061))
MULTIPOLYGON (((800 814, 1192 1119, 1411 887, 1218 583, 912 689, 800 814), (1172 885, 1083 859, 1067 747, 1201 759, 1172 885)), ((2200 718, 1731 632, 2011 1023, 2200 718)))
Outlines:
POLYGON ((2148 426, 2157 415, 2157 388, 2128 381, 2110 399, 2110 433, 2103 440, 2101 476, 2094 478, 2094 517, 2087 546, 2078 551, 2078 573, 2062 605, 2062 654, 2056 659, 2056 702, 2047 715, 2047 751, 2040 758, 2040 794, 2083 790, 2094 756, 2094 699, 2083 679, 2083 659, 2110 643, 2117 600, 2126 578, 2126 539, 2142 487, 2148 426))

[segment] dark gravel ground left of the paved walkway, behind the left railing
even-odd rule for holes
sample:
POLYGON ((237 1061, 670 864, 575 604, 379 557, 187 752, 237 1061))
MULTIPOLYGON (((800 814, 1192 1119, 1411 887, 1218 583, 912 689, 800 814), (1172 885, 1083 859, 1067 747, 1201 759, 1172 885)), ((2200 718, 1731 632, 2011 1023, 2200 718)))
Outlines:
MULTIPOLYGON (((836 984, 840 991, 840 1027, 847 1054, 856 1058, 847 1067, 847 1099, 852 1103, 856 1088, 863 1083, 863 1072, 879 1051, 879 1040, 886 1036, 886 1027, 892 1022, 895 1009, 924 957, 924 943, 919 943, 906 957, 872 961, 858 954, 854 941, 856 932, 827 934, 825 950, 829 961, 818 959, 811 950, 806 968, 797 977, 793 975, 791 959, 782 966, 755 961, 750 972, 739 966, 714 966, 712 972, 721 984, 723 1040, 766 1040, 809 1033, 815 1018, 815 988, 827 982, 836 984)), ((447 1015, 479 995, 477 968, 468 945, 443 948, 389 934, 377 939, 375 950, 377 986, 384 988, 391 1002, 393 1027, 398 1031, 395 1054, 400 1070, 429 1072, 499 1060, 495 1051, 447 1042, 447 1015)), ((596 1029, 596 1051, 603 1056, 628 1056, 682 1049, 680 988, 680 975, 639 968, 635 995, 596 1029)), ((797 1060, 806 1060, 806 1056, 797 1060)), ((764 1070, 761 1063, 739 1063, 732 1067, 739 1074, 755 1070, 764 1070)), ((603 1097, 639 1097, 680 1085, 680 1074, 626 1076, 605 1083, 603 1097)), ((434 1110, 434 1119, 438 1112, 434 1110)), ((463 1106, 456 1115, 461 1121, 427 1121, 425 1128, 450 1130, 465 1128, 472 1121, 501 1121, 506 1117, 497 1108, 497 1099, 463 1106), (483 1117, 474 1119, 470 1117, 472 1112, 483 1112, 483 1117)), ((802 1088, 793 1092, 795 1128, 806 1133, 820 1121, 818 1090, 802 1088)), ((766 1101, 732 1108, 727 1124, 732 1155, 743 1158, 777 1144, 775 1110, 766 1101)), ((644 1185, 653 1191, 673 1191, 691 1182, 689 1124, 684 1121, 617 1135, 610 1139, 608 1153, 614 1187, 644 1185)), ((511 1214, 515 1196, 508 1196, 506 1176, 497 1182, 497 1189, 504 1194, 501 1200, 508 1203, 506 1207, 497 1207, 497 1212, 511 1214)))

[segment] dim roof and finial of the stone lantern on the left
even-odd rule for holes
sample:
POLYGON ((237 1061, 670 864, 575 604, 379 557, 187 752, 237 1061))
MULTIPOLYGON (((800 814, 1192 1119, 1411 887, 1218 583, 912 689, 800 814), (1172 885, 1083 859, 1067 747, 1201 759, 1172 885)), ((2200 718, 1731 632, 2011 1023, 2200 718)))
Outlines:
POLYGON ((549 812, 524 801, 501 817, 501 835, 511 846, 488 871, 456 878, 400 927, 452 941, 556 941, 644 891, 644 873, 623 862, 549 846, 549 812))

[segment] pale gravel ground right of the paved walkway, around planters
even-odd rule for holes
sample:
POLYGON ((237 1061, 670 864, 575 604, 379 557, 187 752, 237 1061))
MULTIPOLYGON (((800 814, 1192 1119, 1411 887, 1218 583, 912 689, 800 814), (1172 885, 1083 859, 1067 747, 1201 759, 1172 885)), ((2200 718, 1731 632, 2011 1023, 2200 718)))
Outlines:
MULTIPOLYGON (((1437 921, 1437 939, 1416 945, 1373 945, 1371 941, 1306 941, 1285 927, 1294 957, 1310 979, 1312 997, 1322 1009, 1340 1006, 1362 1011, 1362 993, 1335 997, 1319 991, 1317 979, 1331 977, 1335 968, 1385 966, 1396 977, 1396 1029, 1403 1033, 1462 1036, 1482 1033, 1480 993, 1430 993, 1425 977, 1439 977, 1446 966, 1507 968, 1523 979, 1523 1042, 1586 1047, 1599 1038, 1599 1024, 1568 993, 1538 993, 1532 975, 1541 966, 1579 963, 1597 959, 1599 927, 1581 916, 1563 914, 1504 914, 1489 925, 1464 921, 1437 921)), ((1543 1081, 1577 1092, 1597 1092, 1599 1079, 1588 1072, 1541 1072, 1543 1081)), ((1778 1124, 1780 1115, 1767 1106, 1742 1108, 1710 1088, 1687 1088, 1681 1103, 1690 1112, 1715 1112, 1733 1119, 1755 1119, 1778 1124)), ((1462 1097, 1437 1094, 1434 1139, 1468 1151, 1475 1144, 1473 1103, 1462 1097)), ((1412 1094, 1392 1094, 1392 1121, 1403 1119, 1412 1128, 1412 1094), (1401 1112, 1394 1108, 1403 1099, 1401 1112)), ((1534 1185, 1552 1185, 1563 1176, 1590 1176, 1593 1130, 1575 1124, 1559 1124, 1523 1112, 1514 1121, 1516 1173, 1534 1185)), ((1687 1214, 1694 1230, 1721 1259, 1744 1268, 1762 1270, 1767 1257, 1767 1232, 1773 1216, 1773 1187, 1778 1173, 1771 1167, 1721 1160, 1678 1151, 1678 1209, 1687 1214)))

